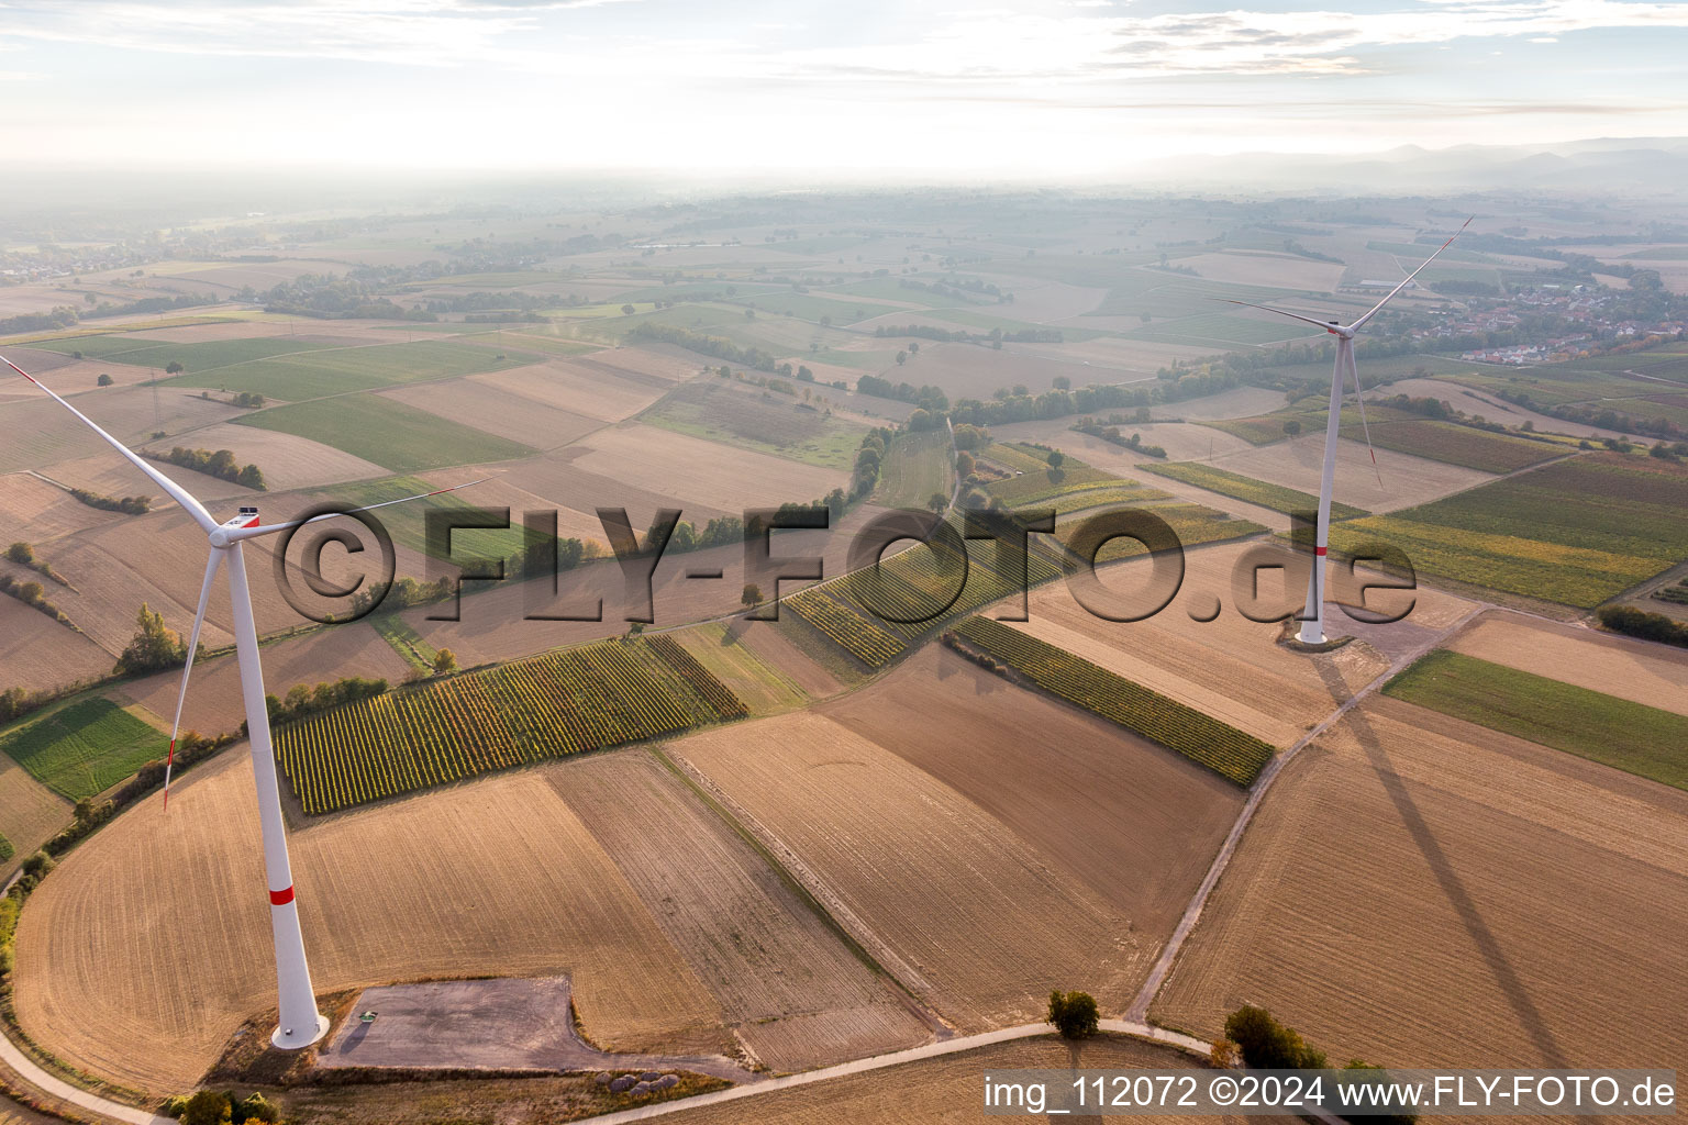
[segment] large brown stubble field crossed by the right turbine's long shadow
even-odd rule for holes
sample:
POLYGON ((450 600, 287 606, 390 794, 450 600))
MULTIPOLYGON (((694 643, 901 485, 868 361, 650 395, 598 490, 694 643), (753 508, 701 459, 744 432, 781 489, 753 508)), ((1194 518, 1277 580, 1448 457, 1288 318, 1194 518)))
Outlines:
POLYGON ((1278 779, 1151 1015, 1261 1004, 1401 1066, 1676 1059, 1685 928, 1688 794, 1367 700, 1278 779))

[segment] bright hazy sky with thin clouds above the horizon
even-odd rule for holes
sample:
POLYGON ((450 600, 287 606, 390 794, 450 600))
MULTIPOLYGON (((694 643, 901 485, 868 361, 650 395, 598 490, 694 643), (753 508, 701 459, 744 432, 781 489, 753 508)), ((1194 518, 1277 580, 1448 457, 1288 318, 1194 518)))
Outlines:
POLYGON ((1649 0, 0 0, 14 160, 1114 174, 1688 135, 1649 0))

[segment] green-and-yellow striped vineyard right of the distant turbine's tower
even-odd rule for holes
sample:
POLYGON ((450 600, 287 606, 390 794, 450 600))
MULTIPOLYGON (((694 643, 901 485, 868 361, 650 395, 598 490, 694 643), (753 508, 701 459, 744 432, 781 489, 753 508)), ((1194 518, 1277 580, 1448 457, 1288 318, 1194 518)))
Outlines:
POLYGON ((1332 528, 1350 553, 1384 541, 1418 570, 1592 609, 1688 558, 1688 471, 1587 454, 1391 516, 1332 528))

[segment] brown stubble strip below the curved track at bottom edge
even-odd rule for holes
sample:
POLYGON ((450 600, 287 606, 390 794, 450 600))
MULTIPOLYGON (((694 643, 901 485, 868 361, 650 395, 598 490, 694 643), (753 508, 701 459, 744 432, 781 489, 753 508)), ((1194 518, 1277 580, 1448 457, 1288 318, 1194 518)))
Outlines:
MULTIPOLYGON (((832 1125, 834 1122, 851 1122, 851 1125, 906 1125, 908 1122, 960 1125, 962 1122, 989 1120, 981 1118, 979 1110, 981 1074, 1020 1068, 1168 1071, 1195 1066, 1197 1063, 1187 1054, 1124 1036, 1104 1034, 1082 1042, 1065 1042, 1055 1036, 1043 1036, 905 1063, 883 1071, 847 1074, 741 1101, 680 1110, 665 1120, 674 1125, 832 1125)), ((1204 1125, 1241 1125, 1249 1118, 1138 1117, 1133 1120, 1144 1125, 1192 1120, 1204 1122, 1204 1125)))

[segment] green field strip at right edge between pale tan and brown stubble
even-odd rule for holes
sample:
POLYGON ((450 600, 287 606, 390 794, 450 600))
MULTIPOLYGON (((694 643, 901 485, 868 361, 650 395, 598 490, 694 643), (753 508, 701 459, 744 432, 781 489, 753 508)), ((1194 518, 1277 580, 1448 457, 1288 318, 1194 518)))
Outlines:
POLYGON ((1688 717, 1462 653, 1435 651, 1384 693, 1688 789, 1688 717))

